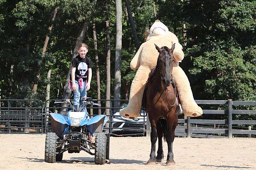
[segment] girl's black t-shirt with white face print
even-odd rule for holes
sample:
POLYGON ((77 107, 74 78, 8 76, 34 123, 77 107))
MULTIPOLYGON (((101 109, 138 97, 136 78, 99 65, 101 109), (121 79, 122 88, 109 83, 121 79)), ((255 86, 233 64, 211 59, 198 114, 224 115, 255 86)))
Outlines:
MULTIPOLYGON (((73 59, 72 66, 76 67, 75 79, 77 80, 77 79, 83 78, 83 81, 85 81, 88 76, 88 68, 93 67, 93 62, 87 56, 84 59, 82 59, 78 55, 73 59)), ((71 75, 70 75, 70 79, 71 79, 71 75)))

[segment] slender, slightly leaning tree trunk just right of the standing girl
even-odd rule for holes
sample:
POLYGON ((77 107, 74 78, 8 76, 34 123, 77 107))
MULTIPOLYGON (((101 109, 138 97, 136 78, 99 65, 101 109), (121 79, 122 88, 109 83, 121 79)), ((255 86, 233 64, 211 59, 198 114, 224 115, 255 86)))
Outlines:
MULTIPOLYGON (((101 102, 100 102, 99 57, 98 57, 98 47, 97 47, 95 22, 93 22, 93 42, 94 42, 95 61, 96 61, 97 99, 98 99, 98 103, 101 104, 101 102)), ((98 114, 101 114, 101 109, 99 109, 98 114)))

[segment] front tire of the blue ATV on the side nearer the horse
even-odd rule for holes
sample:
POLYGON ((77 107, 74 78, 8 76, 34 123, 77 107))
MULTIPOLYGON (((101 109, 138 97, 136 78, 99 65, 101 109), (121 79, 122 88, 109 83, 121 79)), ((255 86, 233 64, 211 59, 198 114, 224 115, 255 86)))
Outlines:
POLYGON ((96 133, 95 164, 105 164, 107 136, 104 132, 96 133))

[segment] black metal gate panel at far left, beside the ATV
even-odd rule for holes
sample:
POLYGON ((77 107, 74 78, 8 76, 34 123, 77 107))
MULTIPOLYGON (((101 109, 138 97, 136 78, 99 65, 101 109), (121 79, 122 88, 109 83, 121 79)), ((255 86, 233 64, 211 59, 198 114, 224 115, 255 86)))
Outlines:
POLYGON ((44 133, 43 122, 41 100, 0 100, 0 133, 44 133))

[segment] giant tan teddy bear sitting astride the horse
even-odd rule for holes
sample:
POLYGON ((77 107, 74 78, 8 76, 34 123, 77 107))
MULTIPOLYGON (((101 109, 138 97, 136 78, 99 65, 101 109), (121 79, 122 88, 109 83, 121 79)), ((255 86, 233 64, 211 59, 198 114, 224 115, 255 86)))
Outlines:
POLYGON ((170 32, 159 20, 156 20, 149 30, 146 42, 140 45, 139 50, 131 60, 131 69, 138 68, 138 70, 131 83, 128 106, 121 109, 121 116, 134 118, 140 114, 146 81, 151 72, 151 68, 157 65, 159 53, 154 44, 159 47, 167 46, 171 48, 174 43, 175 49, 173 56, 175 57, 176 64, 173 66, 172 76, 180 97, 181 108, 185 116, 193 117, 202 115, 202 109, 196 104, 193 98, 189 80, 178 64, 184 58, 182 45, 178 42, 175 34, 170 32))

